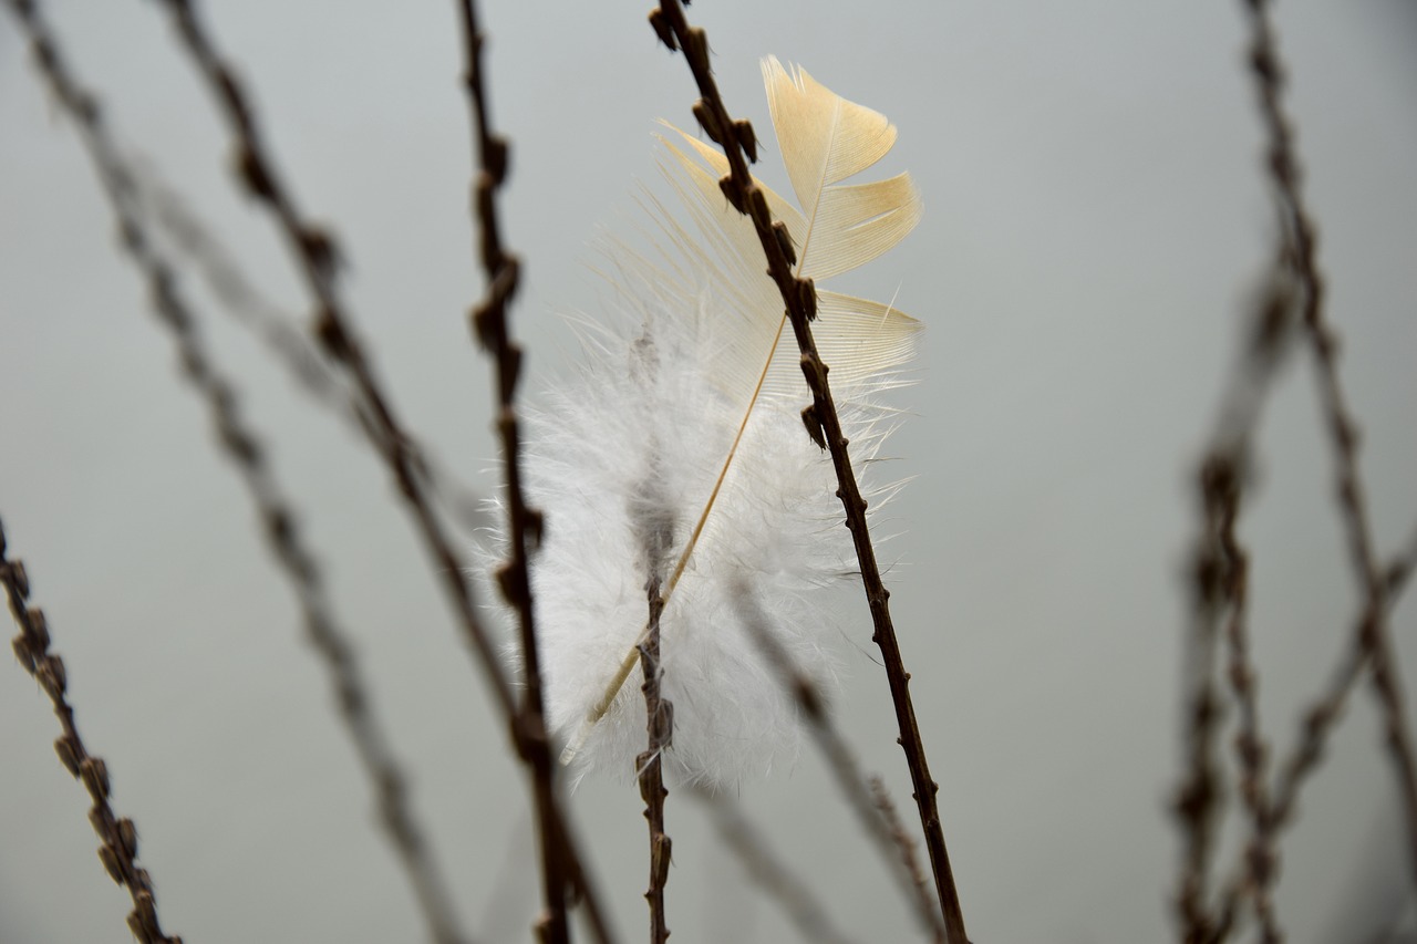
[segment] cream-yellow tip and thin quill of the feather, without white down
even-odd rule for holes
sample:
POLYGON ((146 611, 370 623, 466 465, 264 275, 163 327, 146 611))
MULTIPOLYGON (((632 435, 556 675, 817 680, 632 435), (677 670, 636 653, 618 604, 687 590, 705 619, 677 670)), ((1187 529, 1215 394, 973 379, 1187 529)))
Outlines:
MULTIPOLYGON (((777 58, 765 60, 762 72, 796 206, 761 183, 758 186, 768 197, 772 217, 784 221, 792 237, 796 275, 820 285, 900 242, 920 221, 920 194, 905 173, 869 183, 843 183, 874 166, 896 143, 896 128, 883 115, 833 94, 802 68, 784 68, 777 58)), ((699 279, 707 274, 713 281, 714 302, 721 310, 711 312, 716 343, 710 377, 741 421, 711 490, 701 499, 691 532, 676 549, 673 571, 663 585, 666 601, 686 573, 693 573, 694 551, 757 412, 769 401, 788 400, 799 408, 808 398, 782 298, 765 274, 754 225, 727 204, 718 187, 720 177, 728 173, 727 159, 696 137, 672 130, 679 135, 676 140, 660 139, 662 169, 689 224, 657 207, 653 215, 667 242, 659 259, 632 257, 621 259, 619 265, 632 269, 639 285, 672 295, 680 305, 691 303, 686 296, 693 289, 665 286, 694 282, 680 271, 684 259, 699 269, 699 279)), ((852 397, 893 386, 913 353, 918 327, 917 320, 890 305, 818 288, 813 335, 830 369, 837 401, 849 405, 852 397)), ((665 645, 673 646, 674 628, 666 624, 662 632, 665 645)), ((604 696, 570 738, 563 761, 568 763, 592 736, 615 704, 636 661, 636 649, 631 646, 619 670, 605 680, 604 696)))

